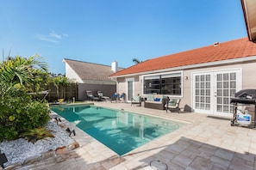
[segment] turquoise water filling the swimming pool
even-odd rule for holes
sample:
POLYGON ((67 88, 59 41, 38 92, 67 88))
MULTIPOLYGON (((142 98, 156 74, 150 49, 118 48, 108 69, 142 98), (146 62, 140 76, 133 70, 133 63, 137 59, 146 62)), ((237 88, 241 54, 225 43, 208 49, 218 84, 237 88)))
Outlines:
POLYGON ((51 109, 118 155, 124 155, 185 125, 99 106, 53 106, 51 109))

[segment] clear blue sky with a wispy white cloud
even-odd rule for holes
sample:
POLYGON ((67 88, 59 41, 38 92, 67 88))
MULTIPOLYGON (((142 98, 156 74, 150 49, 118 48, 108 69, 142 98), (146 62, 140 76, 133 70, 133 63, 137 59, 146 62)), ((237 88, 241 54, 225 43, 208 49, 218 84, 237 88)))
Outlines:
POLYGON ((8 0, 0 21, 5 57, 40 54, 56 74, 63 58, 127 68, 247 37, 240 0, 8 0))

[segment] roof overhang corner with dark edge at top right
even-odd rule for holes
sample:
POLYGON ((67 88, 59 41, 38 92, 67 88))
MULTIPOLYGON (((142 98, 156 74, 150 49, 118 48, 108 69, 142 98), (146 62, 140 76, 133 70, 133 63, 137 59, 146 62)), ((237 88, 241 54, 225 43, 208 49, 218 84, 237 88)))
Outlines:
POLYGON ((248 39, 256 43, 256 1, 240 0, 247 26, 248 39))

